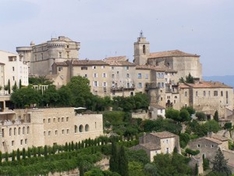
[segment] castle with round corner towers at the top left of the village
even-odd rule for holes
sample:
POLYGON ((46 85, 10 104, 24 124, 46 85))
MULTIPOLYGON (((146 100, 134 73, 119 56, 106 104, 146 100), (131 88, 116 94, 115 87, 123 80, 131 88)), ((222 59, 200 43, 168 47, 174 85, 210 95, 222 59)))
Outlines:
POLYGON ((16 51, 25 62, 29 62, 30 75, 45 76, 51 74, 54 62, 77 59, 79 49, 79 42, 59 36, 38 45, 31 42, 30 46, 17 47, 16 51))

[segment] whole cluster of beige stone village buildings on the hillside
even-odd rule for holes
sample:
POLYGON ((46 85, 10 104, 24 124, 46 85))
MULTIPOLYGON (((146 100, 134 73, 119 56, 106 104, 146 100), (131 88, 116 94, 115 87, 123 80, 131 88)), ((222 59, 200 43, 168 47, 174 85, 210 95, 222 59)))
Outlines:
MULTIPOLYGON (((116 97, 147 95, 149 106, 131 112, 132 119, 153 122, 169 118, 170 112, 173 113, 174 110, 181 112, 182 109, 192 108, 194 112, 187 121, 199 119, 195 112, 205 115, 201 123, 216 121, 219 130, 210 128, 205 136, 194 137, 187 143, 187 148, 199 151, 196 154, 187 152, 190 154, 189 165, 197 168, 196 174, 205 174, 204 163, 207 160, 211 163, 220 150, 225 159, 228 159, 228 167, 234 168, 234 152, 230 150, 230 144, 233 143, 233 87, 221 82, 204 81, 199 55, 180 50, 151 52, 150 43, 142 32, 134 42, 133 62, 126 56, 82 60, 79 58, 79 49, 79 42, 59 36, 41 44, 31 42, 29 46, 16 47, 17 54, 0 50, 2 154, 31 147, 94 140, 111 133, 116 135, 113 131, 110 132, 111 128, 107 134, 103 113, 85 112, 87 107, 41 108, 30 104, 19 109, 11 101, 16 88, 31 86, 42 92, 48 89, 48 85, 30 85, 29 78, 43 77, 51 81, 56 89, 60 89, 72 78, 80 76, 89 81, 91 93, 98 97, 113 100, 116 97)), ((111 111, 112 108, 109 107, 108 110, 111 111)), ((176 117, 172 115, 171 119, 175 120, 176 117)), ((157 154, 172 154, 175 148, 182 154, 186 147, 181 146, 180 134, 188 130, 187 124, 182 121, 185 120, 180 121, 182 129, 178 133, 142 130, 147 133, 135 137, 134 140, 138 142, 131 149, 144 150, 149 162, 154 162, 157 154)), ((3 161, 6 158, 1 162, 3 161)))

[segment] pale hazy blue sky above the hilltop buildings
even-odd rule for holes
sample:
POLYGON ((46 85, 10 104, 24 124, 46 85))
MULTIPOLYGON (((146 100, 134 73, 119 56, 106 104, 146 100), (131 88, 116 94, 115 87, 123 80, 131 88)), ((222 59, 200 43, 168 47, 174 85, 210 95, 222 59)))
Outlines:
POLYGON ((204 76, 234 75, 233 0, 0 0, 0 50, 58 36, 79 59, 125 55, 143 31, 150 51, 200 55, 204 76))

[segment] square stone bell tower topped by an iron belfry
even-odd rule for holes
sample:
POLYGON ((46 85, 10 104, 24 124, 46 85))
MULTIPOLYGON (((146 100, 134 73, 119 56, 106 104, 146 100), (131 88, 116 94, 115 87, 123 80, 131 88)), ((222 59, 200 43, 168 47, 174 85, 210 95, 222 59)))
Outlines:
POLYGON ((137 38, 137 42, 134 43, 134 63, 136 65, 145 65, 150 53, 149 42, 143 36, 143 32, 140 32, 140 36, 137 38))

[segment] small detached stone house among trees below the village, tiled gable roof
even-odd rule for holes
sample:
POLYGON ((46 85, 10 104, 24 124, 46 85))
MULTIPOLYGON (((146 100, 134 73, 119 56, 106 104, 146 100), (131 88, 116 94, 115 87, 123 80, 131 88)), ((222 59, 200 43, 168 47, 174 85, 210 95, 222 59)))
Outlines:
POLYGON ((175 148, 181 152, 179 136, 168 131, 144 134, 139 138, 139 144, 132 147, 134 150, 145 150, 151 162, 157 154, 171 154, 175 148))

